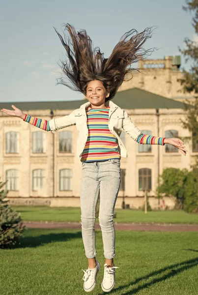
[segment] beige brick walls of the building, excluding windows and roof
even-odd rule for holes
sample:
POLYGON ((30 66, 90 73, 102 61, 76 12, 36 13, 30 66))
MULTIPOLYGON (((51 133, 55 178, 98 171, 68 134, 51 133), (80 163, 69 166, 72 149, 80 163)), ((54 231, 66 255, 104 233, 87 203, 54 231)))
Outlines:
MULTIPOLYGON (((175 70, 170 58, 147 60, 139 62, 141 73, 134 72, 133 79, 124 82, 119 90, 133 87, 141 88, 172 99, 183 100, 192 97, 192 94, 178 92, 181 89, 178 79, 182 73, 175 70)), ((54 118, 68 115, 72 110, 55 110, 54 118)), ((161 109, 158 116, 154 109, 127 110, 132 121, 140 130, 150 130, 152 135, 165 136, 170 129, 178 130, 179 138, 190 136, 188 130, 183 129, 180 119, 185 118, 183 110, 161 109), (159 134, 158 134, 159 128, 159 134)), ((25 112, 38 118, 51 119, 50 110, 31 110, 25 112)), ((18 190, 9 191, 8 198, 11 204, 28 205, 50 205, 50 206, 80 206, 80 184, 81 184, 81 162, 76 157, 76 145, 78 131, 75 126, 67 129, 72 132, 72 152, 59 152, 59 130, 53 134, 40 130, 20 118, 8 117, 0 113, 0 177, 6 180, 6 171, 16 169, 19 172, 18 190), (19 132, 19 153, 6 153, 5 134, 9 131, 19 132), (32 133, 41 131, 46 134, 44 153, 32 152, 32 133), (42 189, 32 189, 32 171, 43 169, 45 171, 45 185, 42 189), (59 171, 71 169, 72 190, 59 190, 59 171)), ((155 189, 158 184, 158 176, 163 169, 187 168, 195 163, 198 152, 192 151, 191 142, 185 142, 188 149, 186 156, 178 152, 166 152, 163 146, 152 146, 151 152, 139 152, 139 145, 125 134, 125 146, 128 150, 128 157, 121 159, 121 169, 125 169, 125 190, 120 190, 116 207, 121 208, 122 202, 130 208, 139 208, 143 205, 144 192, 139 190, 139 169, 151 169, 152 189, 149 192, 149 201, 153 208, 159 207, 155 196, 155 189)), ((174 199, 165 198, 166 205, 174 207, 174 199)))

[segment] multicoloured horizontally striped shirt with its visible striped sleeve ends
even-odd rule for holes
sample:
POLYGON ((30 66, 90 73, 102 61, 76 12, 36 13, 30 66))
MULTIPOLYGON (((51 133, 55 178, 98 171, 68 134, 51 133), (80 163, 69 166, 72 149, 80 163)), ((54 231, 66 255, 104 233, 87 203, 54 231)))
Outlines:
MULTIPOLYGON (((88 137, 81 158, 82 162, 120 159, 118 140, 109 130, 108 126, 109 110, 110 107, 107 109, 91 109, 89 107, 86 110, 88 137)), ((24 121, 43 130, 51 131, 48 120, 25 115, 24 121)), ((164 140, 164 137, 156 137, 141 133, 135 141, 144 145, 164 146, 164 140)))

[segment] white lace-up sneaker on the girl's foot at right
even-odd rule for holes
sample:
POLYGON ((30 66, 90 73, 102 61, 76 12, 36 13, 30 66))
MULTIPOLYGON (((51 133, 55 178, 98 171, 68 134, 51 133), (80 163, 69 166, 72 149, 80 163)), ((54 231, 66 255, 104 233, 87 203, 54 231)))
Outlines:
POLYGON ((108 265, 105 264, 104 269, 104 278, 101 284, 102 290, 104 292, 110 292, 115 286, 115 271, 113 268, 119 268, 117 266, 107 267, 108 265))

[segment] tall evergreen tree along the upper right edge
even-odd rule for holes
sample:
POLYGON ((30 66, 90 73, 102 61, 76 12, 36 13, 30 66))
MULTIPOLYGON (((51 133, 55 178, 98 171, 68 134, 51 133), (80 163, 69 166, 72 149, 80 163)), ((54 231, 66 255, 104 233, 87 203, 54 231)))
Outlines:
MULTIPOLYGON (((193 27, 196 34, 198 34, 198 0, 186 0, 187 6, 184 6, 185 11, 193 12, 193 27)), ((186 119, 181 120, 183 127, 188 129, 192 134, 193 149, 198 151, 198 42, 192 41, 189 38, 184 39, 185 49, 180 50, 181 54, 184 55, 185 61, 189 59, 192 61, 189 72, 183 70, 183 77, 179 79, 182 89, 185 92, 193 92, 195 100, 191 102, 187 100, 188 104, 185 104, 186 119)), ((189 139, 189 138, 188 138, 189 139)), ((193 168, 198 168, 198 157, 196 164, 193 168)))

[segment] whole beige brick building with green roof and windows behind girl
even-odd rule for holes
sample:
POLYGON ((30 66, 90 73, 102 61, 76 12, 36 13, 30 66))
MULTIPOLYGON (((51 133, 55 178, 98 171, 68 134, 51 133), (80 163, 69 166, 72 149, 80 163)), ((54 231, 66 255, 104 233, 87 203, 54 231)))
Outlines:
MULTIPOLYGON (((189 136, 182 128, 185 118, 183 101, 187 95, 177 81, 181 78, 178 58, 150 60, 140 63, 142 73, 124 82, 113 102, 127 110, 132 121, 147 134, 179 138, 189 136), (174 62, 176 60, 176 62, 174 62)), ((192 99, 192 95, 188 95, 192 99)), ((14 103, 24 113, 38 118, 58 118, 68 115, 85 103, 20 102, 14 103)), ((12 103, 0 103, 11 109, 12 103)), ((11 204, 80 207, 81 162, 76 157, 78 131, 75 126, 52 132, 34 127, 20 118, 0 113, 0 177, 8 179, 11 204)), ((198 145, 185 142, 186 156, 165 145, 138 145, 127 134, 122 138, 128 157, 121 159, 121 187, 116 207, 122 202, 130 208, 143 205, 144 189, 149 189, 152 207, 158 207, 155 189, 158 176, 168 167, 187 168, 198 156, 198 145)), ((169 207, 172 198, 165 198, 169 207)))

